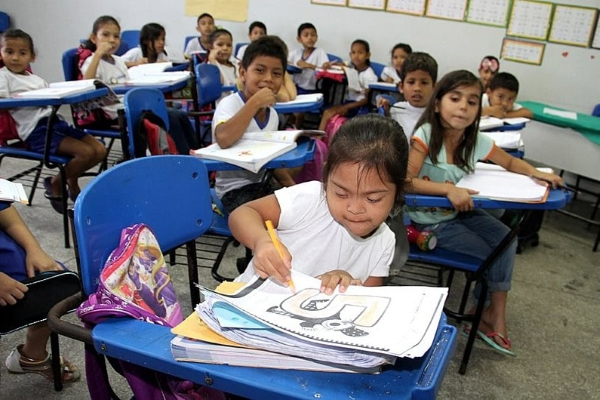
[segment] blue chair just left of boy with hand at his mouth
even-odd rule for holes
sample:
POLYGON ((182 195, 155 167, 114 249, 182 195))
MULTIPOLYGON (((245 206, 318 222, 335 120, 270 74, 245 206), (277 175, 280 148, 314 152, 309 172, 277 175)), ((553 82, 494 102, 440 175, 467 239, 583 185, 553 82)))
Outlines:
POLYGON ((211 142, 211 120, 200 120, 203 116, 212 116, 215 113, 215 102, 221 97, 223 84, 221 83, 221 73, 219 68, 211 64, 197 64, 194 67, 196 78, 194 99, 194 111, 188 114, 194 118, 196 134, 200 138, 201 144, 211 142), (212 105, 211 111, 202 111, 206 106, 212 105))

